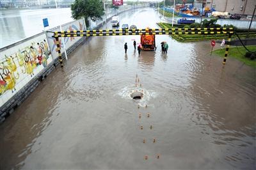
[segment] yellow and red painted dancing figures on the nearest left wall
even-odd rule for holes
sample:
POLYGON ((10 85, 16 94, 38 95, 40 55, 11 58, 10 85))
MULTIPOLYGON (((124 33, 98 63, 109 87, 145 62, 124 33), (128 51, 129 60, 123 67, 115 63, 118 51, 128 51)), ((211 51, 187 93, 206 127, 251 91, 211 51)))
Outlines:
MULTIPOLYGON (((51 51, 46 40, 33 42, 24 49, 19 49, 12 56, 1 56, 0 63, 0 96, 6 91, 16 90, 15 86, 21 74, 33 77, 34 70, 39 66, 47 66, 51 51), (18 70, 19 68, 19 70, 18 70)), ((24 76, 23 76, 24 77, 24 76)))

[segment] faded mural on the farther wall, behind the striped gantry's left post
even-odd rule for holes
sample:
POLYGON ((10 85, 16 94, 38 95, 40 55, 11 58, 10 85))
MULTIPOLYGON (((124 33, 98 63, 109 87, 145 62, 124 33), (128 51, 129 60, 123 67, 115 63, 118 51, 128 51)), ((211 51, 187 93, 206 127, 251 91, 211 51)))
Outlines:
MULTIPOLYGON (((70 24, 67 24, 66 26, 62 26, 63 31, 80 31, 80 30, 85 30, 84 27, 84 21, 83 19, 80 20, 76 20, 70 24)), ((60 31, 60 30, 54 30, 54 31, 60 31)), ((56 44, 56 39, 52 37, 52 33, 48 33, 47 34, 47 38, 49 40, 50 43, 50 47, 51 47, 51 51, 52 52, 56 52, 56 54, 54 54, 54 57, 58 56, 58 50, 57 50, 57 44, 56 44), (51 43, 53 42, 53 43, 51 43)), ((66 45, 66 49, 68 49, 68 47, 70 47, 73 43, 75 43, 77 40, 79 40, 81 37, 64 37, 64 43, 66 45), (69 44, 70 43, 70 44, 69 44)), ((60 47, 61 49, 64 47, 63 45, 63 40, 62 38, 59 38, 59 42, 60 42, 60 47)))

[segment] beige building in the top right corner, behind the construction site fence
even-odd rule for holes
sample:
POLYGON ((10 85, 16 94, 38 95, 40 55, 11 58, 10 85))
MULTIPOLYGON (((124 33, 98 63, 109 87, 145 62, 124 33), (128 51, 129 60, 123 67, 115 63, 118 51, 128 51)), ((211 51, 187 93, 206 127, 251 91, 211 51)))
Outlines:
POLYGON ((252 15, 255 8, 255 0, 195 0, 195 8, 214 8, 218 12, 252 15))

